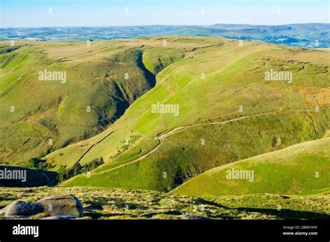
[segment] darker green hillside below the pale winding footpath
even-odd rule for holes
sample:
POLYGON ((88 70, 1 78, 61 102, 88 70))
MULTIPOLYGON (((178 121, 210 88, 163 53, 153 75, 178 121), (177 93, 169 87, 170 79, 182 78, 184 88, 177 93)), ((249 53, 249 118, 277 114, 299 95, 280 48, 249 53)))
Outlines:
POLYGON ((115 160, 109 163, 111 167, 105 164, 93 170, 91 177, 79 175, 65 181, 63 186, 171 191, 211 168, 321 136, 315 130, 324 130, 329 125, 325 123, 329 111, 319 116, 316 127, 306 120, 305 113, 276 113, 192 127, 164 138, 159 148, 142 161, 127 160, 128 165, 123 166, 123 162, 115 160), (205 145, 201 145, 201 138, 205 145), (274 143, 278 138, 281 145, 274 143))

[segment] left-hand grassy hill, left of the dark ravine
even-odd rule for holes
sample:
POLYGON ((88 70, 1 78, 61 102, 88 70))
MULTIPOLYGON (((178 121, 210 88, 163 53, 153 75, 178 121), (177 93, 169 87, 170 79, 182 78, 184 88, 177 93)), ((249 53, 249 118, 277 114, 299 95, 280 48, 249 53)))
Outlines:
POLYGON ((139 43, 3 44, 0 161, 12 165, 100 133, 155 86, 139 43), (44 70, 66 79, 40 81, 44 70))

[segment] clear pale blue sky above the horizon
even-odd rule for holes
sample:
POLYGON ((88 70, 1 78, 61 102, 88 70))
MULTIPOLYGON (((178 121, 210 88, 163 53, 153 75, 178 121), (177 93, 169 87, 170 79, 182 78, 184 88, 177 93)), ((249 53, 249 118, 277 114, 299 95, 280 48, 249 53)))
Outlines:
POLYGON ((329 23, 330 0, 0 0, 0 27, 329 23))

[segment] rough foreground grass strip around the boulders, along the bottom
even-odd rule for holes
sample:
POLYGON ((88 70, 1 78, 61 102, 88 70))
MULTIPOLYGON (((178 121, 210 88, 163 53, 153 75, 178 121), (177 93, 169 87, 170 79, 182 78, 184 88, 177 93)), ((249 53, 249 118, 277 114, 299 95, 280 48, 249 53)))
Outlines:
MULTIPOLYGON (((34 202, 72 193, 84 206, 80 219, 329 219, 327 195, 187 197, 156 191, 107 188, 0 188, 0 208, 14 200, 34 202), (199 216, 199 217, 192 217, 199 216)), ((328 191, 329 194, 329 191, 328 191)), ((46 217, 40 213, 31 219, 46 217)))

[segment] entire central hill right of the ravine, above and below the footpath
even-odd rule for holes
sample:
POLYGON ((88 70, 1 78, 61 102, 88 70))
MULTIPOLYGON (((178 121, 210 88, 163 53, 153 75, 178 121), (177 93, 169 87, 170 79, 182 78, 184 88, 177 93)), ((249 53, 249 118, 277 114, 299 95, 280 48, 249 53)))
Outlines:
MULTIPOLYGON (((235 40, 213 38, 206 38, 210 44, 205 47, 191 47, 201 38, 152 40, 165 39, 164 51, 179 43, 190 46, 183 58, 158 72, 155 88, 129 106, 107 131, 86 140, 84 151, 79 150, 81 145, 78 149, 71 145, 47 156, 52 163, 73 164, 98 142, 81 163, 100 156, 107 163, 90 178, 80 175, 64 186, 171 191, 216 166, 321 138, 329 129, 329 53, 258 42, 239 46, 235 40), (292 83, 265 81, 269 70, 292 72, 292 83), (157 102, 178 104, 180 114, 152 113, 157 102), (168 133, 176 128, 178 132, 168 133), (139 138, 132 138, 136 135, 139 138), (125 139, 132 142, 125 146, 125 139), (146 152, 149 139, 155 146, 146 152), (123 154, 127 159, 118 161, 123 154)), ((143 61, 159 65, 155 59, 143 61)))

